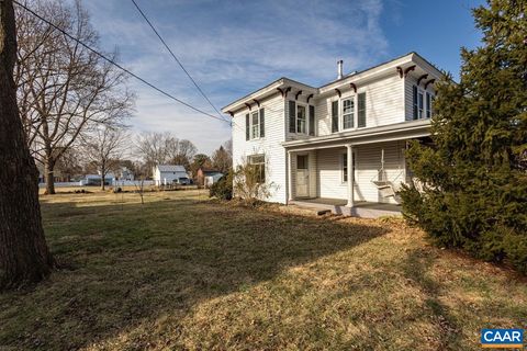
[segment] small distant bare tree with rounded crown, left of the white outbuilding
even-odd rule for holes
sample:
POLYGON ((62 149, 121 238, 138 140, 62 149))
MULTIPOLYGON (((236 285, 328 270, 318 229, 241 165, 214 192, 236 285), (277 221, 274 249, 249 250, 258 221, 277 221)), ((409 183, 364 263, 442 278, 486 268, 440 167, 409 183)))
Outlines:
POLYGON ((128 134, 122 127, 101 126, 97 128, 83 146, 87 159, 97 167, 101 176, 101 190, 109 170, 119 165, 125 152, 128 134))

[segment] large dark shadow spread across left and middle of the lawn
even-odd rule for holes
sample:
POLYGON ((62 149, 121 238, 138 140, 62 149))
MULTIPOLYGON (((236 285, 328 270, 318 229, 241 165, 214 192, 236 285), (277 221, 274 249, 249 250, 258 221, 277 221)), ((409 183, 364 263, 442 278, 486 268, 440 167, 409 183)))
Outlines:
MULTIPOLYGON (((0 347, 64 350, 131 338, 138 326, 182 319, 202 301, 389 231, 188 200, 44 203, 43 216, 51 249, 69 269, 0 295, 0 347)), ((147 333, 132 339, 134 349, 153 347, 147 333)))

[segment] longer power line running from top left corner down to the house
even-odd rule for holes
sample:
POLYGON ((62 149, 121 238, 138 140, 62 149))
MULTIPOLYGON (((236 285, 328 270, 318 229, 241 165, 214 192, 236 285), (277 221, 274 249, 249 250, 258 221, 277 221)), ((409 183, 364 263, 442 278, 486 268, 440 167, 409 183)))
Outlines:
POLYGON ((209 112, 205 112, 203 110, 200 110, 198 107, 194 107, 193 105, 191 105, 190 103, 187 103, 176 97, 173 97, 172 94, 166 92, 165 90, 160 89, 160 88, 157 88, 156 86, 154 86, 153 83, 150 83, 149 81, 145 80, 144 78, 141 78, 139 76, 137 76, 136 73, 130 71, 128 69, 124 68, 123 66, 119 65, 117 63, 115 63, 113 59, 109 58, 108 56, 105 56, 104 54, 101 54, 99 53, 98 50, 96 50, 94 48, 90 47, 89 45, 82 43, 80 39, 74 37, 72 35, 70 35, 68 32, 64 31, 63 29, 58 27, 57 25, 55 25, 54 23, 52 23, 51 21, 44 19, 43 16, 41 16, 38 13, 34 12, 33 10, 29 9, 26 5, 20 3, 19 1, 16 0, 13 0, 13 3, 18 4, 19 7, 21 7, 22 9, 24 9, 25 11, 30 12, 31 14, 33 14, 34 16, 36 16, 37 19, 40 19, 41 21, 47 23, 48 25, 51 25, 52 27, 54 27, 56 31, 63 33, 64 35, 66 35, 67 37, 69 37, 70 39, 79 43, 80 45, 82 45, 85 48, 87 48, 88 50, 92 52, 93 54, 96 54, 97 56, 101 57, 102 59, 106 60, 108 63, 112 64, 113 66, 117 67, 119 69, 121 69, 122 71, 128 73, 130 76, 134 77, 135 79, 137 79, 138 81, 143 82, 144 84, 150 87, 152 89, 160 92, 161 94, 166 95, 167 98, 170 98, 172 99, 173 101, 195 111, 195 112, 199 112, 205 116, 209 116, 211 118, 215 118, 215 120, 218 120, 218 121, 222 121, 222 122, 226 122, 226 123, 229 123, 228 121, 225 121, 224 118, 222 117, 218 117, 218 116, 215 116, 213 114, 210 114, 209 112))

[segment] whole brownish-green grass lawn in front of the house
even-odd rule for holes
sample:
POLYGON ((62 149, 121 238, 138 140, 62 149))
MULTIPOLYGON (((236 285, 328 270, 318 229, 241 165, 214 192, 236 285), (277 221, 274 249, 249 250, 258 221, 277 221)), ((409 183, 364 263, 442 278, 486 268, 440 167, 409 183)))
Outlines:
POLYGON ((63 268, 0 294, 0 350, 480 350, 527 327, 525 279, 397 219, 145 200, 42 197, 63 268))

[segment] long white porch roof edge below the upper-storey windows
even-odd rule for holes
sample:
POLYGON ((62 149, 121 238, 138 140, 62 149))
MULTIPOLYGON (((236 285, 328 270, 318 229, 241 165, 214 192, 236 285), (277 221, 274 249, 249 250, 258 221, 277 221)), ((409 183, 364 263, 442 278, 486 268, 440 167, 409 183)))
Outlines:
POLYGON ((289 150, 383 143, 429 136, 430 120, 407 121, 282 143, 289 150))

